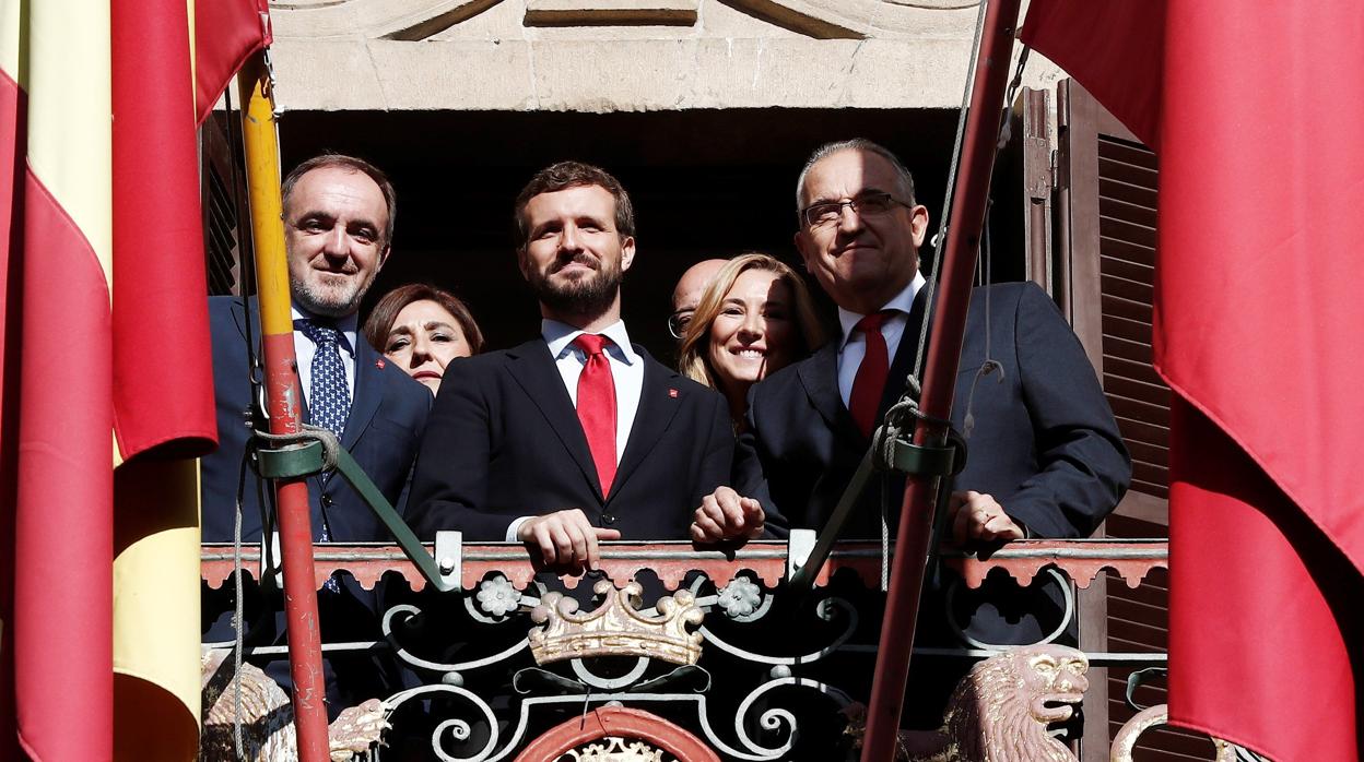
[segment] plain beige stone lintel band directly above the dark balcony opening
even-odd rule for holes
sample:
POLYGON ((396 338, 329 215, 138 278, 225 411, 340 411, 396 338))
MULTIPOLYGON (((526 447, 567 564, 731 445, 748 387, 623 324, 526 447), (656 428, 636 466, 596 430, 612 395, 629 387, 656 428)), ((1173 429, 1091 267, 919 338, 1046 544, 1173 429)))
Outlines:
MULTIPOLYGON (((291 110, 958 108, 970 40, 280 40, 291 110)), ((1045 60, 1024 82, 1054 82, 1045 60)))

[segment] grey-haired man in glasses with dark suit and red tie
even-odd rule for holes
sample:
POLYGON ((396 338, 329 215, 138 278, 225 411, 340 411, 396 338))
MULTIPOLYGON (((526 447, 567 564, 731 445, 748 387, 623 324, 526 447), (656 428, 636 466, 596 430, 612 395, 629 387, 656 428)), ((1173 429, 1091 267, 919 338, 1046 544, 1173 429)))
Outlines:
MULTIPOLYGON (((697 511, 700 540, 745 534, 734 522, 746 514, 739 495, 756 498, 779 533, 820 529, 914 369, 926 308, 918 247, 928 210, 914 202, 910 173, 876 143, 831 143, 806 162, 797 203, 795 245, 837 304, 842 334, 753 387, 734 489, 717 489, 697 511)), ((951 502, 958 543, 1088 536, 1131 478, 1093 367, 1033 284, 973 293, 952 423, 970 447, 951 502)), ((883 504, 895 536, 904 480, 880 478, 862 492, 844 538, 880 537, 883 504)), ((1054 585, 988 590, 974 601, 988 605, 975 612, 960 611, 964 597, 955 616, 992 643, 1041 639, 1056 618, 1038 613, 1058 615, 1054 585)), ((918 642, 948 638, 943 600, 930 594, 923 605, 918 642)), ((917 698, 918 720, 932 724, 945 695, 917 698)))

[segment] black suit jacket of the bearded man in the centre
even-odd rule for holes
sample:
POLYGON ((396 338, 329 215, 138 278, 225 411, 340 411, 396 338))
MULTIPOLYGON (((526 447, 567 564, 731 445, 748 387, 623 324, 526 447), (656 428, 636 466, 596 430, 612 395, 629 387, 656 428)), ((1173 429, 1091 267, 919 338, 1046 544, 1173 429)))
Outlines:
POLYGON ((610 495, 543 339, 451 363, 412 478, 417 534, 499 541, 517 517, 582 508, 629 540, 687 538, 701 498, 728 477, 727 405, 634 349, 644 386, 610 495))

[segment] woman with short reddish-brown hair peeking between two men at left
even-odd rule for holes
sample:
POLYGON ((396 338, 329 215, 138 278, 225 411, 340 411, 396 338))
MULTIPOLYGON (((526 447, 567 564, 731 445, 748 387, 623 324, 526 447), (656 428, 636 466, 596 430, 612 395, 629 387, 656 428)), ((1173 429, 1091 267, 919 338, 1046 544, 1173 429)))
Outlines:
POLYGON ((364 322, 364 338, 431 394, 441 388, 450 360, 483 349, 483 333, 469 308, 454 294, 426 284, 408 284, 383 294, 364 322))

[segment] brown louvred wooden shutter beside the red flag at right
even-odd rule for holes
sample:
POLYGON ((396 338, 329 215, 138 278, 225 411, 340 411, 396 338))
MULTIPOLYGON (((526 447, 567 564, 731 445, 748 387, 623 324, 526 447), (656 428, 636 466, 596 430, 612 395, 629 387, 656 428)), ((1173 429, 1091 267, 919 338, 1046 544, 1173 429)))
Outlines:
MULTIPOLYGON (((1101 533, 1168 537, 1170 390, 1157 376, 1151 353, 1159 169, 1155 154, 1073 80, 1058 85, 1056 110, 1057 230, 1046 285, 1094 363, 1132 453, 1132 487, 1101 533)), ((1037 255, 1030 259, 1038 260, 1037 255)), ((1090 622, 1082 608, 1082 633, 1090 624, 1099 637, 1084 647, 1168 649, 1169 575, 1163 570, 1135 590, 1112 574, 1091 589, 1090 622)), ((1132 671, 1114 667, 1091 676, 1086 759, 1106 759, 1108 742, 1132 717, 1124 701, 1132 671), (1106 697, 1099 690, 1105 680, 1106 697)), ((1139 690, 1136 699, 1165 703, 1163 682, 1139 690)), ((1207 759, 1213 750, 1206 737, 1168 727, 1144 733, 1138 748, 1139 759, 1207 759)))

